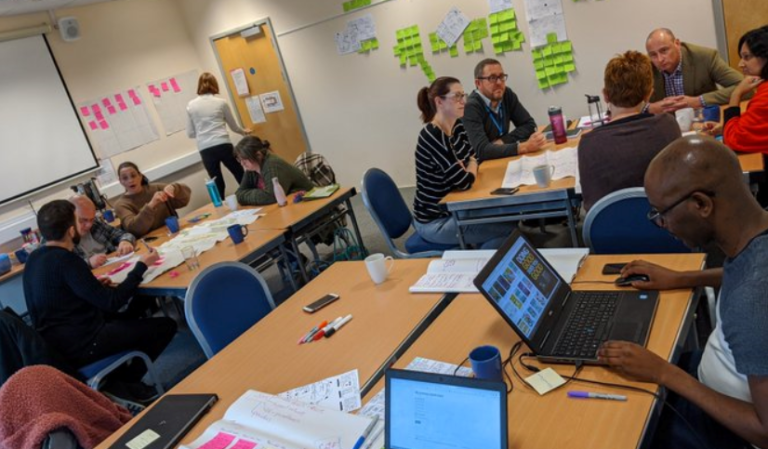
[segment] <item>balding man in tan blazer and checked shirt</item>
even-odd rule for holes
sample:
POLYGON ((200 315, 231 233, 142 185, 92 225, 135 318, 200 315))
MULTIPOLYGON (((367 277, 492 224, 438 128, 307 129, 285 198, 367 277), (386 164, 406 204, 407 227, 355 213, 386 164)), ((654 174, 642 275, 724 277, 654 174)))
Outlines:
POLYGON ((645 41, 653 62, 653 95, 647 111, 658 114, 683 108, 727 104, 742 75, 717 50, 680 42, 666 28, 645 41))

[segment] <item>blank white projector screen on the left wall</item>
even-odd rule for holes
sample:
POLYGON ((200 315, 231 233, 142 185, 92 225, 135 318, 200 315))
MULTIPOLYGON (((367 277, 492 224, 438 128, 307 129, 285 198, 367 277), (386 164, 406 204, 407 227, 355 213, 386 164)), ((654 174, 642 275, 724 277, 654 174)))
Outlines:
POLYGON ((98 167, 44 36, 0 42, 0 204, 98 167))

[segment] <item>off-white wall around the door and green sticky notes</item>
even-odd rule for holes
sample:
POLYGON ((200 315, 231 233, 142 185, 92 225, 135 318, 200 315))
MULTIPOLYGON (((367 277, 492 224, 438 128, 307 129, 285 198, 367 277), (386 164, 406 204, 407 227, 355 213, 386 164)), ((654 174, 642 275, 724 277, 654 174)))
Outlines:
MULTIPOLYGON (((368 167, 389 172, 400 185, 413 185, 413 151, 421 127, 416 92, 427 84, 417 68, 401 69, 393 56, 395 30, 418 24, 422 40, 436 29, 451 6, 470 18, 487 16, 484 0, 398 0, 331 20, 295 33, 283 34, 341 12, 340 0, 176 0, 187 31, 206 70, 218 72, 209 37, 269 16, 304 120, 312 151, 325 155, 341 182, 357 184, 368 167), (346 21, 371 13, 381 48, 369 55, 338 56, 333 40, 346 21), (283 35, 281 35, 283 34, 283 35)), ((644 50, 651 29, 672 28, 683 40, 716 46, 714 15, 708 0, 562 0, 578 72, 566 85, 542 92, 536 86, 530 47, 499 59, 510 73, 508 85, 520 96, 537 122, 546 120, 549 105, 561 105, 566 115, 587 112, 584 94, 599 93, 602 72, 614 54, 644 50)), ((513 0, 528 36, 523 0, 513 0)), ((492 56, 490 39, 485 55, 451 59, 427 54, 438 75, 461 79, 472 88, 472 69, 492 56)), ((428 48, 428 45, 427 45, 428 48)), ((427 50, 428 51, 428 50, 427 50)))

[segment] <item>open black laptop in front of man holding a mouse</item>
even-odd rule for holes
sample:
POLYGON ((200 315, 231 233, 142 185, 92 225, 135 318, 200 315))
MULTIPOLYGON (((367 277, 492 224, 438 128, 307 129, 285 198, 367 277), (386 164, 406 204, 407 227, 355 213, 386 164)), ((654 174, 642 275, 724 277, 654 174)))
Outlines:
POLYGON ((597 363, 607 340, 645 346, 659 297, 650 291, 573 291, 519 231, 474 283, 539 360, 555 363, 597 363))

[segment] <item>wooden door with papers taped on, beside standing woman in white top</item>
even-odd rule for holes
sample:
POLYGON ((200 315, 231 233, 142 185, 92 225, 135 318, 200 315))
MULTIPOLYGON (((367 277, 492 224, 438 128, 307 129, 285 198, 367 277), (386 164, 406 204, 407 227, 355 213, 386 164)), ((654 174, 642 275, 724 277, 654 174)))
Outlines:
POLYGON ((268 22, 262 23, 260 27, 262 32, 255 36, 244 38, 238 31, 213 38, 213 45, 243 126, 251 128, 253 135, 269 140, 274 152, 293 164, 301 153, 307 151, 308 145, 272 29, 268 22), (231 75, 235 69, 242 69, 245 73, 250 92, 246 96, 238 96, 231 75), (280 92, 285 109, 265 113, 265 123, 253 123, 246 98, 274 91, 280 92))

